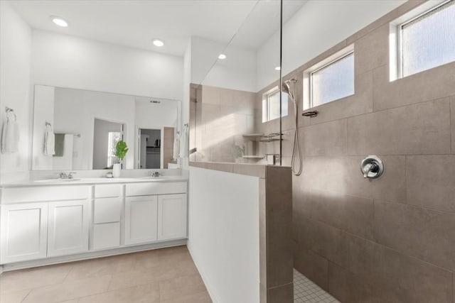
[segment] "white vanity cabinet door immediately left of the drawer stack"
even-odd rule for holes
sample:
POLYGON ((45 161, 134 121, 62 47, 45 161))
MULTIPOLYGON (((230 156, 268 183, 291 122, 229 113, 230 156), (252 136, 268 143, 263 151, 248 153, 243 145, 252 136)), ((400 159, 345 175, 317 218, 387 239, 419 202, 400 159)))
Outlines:
POLYGON ((48 257, 88 250, 88 201, 50 202, 48 257))

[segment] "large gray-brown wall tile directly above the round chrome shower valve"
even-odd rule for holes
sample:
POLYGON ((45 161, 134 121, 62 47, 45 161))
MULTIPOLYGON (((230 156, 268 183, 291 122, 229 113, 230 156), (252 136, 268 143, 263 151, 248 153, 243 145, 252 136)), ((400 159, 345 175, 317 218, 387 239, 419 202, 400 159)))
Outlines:
POLYGON ((348 119, 350 155, 450 153, 449 99, 348 119))

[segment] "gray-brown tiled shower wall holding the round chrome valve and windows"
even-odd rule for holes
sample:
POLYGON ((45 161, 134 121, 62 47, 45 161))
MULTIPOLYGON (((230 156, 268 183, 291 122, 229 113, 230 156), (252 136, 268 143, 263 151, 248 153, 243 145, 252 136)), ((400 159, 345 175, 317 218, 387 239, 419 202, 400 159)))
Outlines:
MULTIPOLYGON (((341 302, 455 302, 455 62, 389 81, 389 22, 421 3, 408 1, 285 77, 299 80, 301 105, 302 72, 355 45, 355 95, 319 106, 315 118, 299 111, 304 171, 293 179, 294 267, 341 302), (360 174, 370 154, 385 162, 378 180, 360 174)), ((284 164, 292 114, 283 120, 284 164)))

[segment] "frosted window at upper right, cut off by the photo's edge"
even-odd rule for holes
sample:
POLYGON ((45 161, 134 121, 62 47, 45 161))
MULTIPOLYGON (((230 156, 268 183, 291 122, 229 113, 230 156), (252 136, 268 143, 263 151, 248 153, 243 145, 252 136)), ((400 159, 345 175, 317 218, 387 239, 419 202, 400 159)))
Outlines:
POLYGON ((391 74, 392 80, 455 61, 454 0, 422 5, 392 22, 393 31, 397 49, 391 52, 397 59, 391 64, 397 66, 397 75, 391 74))

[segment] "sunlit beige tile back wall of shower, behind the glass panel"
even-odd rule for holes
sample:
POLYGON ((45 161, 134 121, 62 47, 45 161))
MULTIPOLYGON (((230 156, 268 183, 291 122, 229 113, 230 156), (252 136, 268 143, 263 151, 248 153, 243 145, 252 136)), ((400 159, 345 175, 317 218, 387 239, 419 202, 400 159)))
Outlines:
POLYGON ((238 148, 247 146, 242 135, 254 130, 255 98, 253 92, 191 84, 190 148, 198 148, 191 161, 246 162, 238 148))

